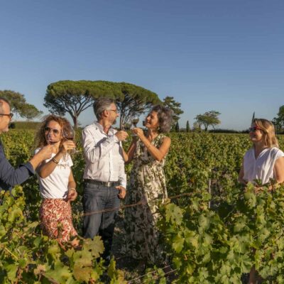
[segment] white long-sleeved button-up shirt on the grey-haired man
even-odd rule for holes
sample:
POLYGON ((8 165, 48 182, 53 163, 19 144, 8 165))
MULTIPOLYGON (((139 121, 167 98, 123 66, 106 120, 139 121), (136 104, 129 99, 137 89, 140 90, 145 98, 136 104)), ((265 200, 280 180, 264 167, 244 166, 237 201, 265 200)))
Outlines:
POLYGON ((115 129, 104 133, 101 124, 94 122, 82 131, 84 148, 84 179, 119 182, 126 188, 126 174, 121 142, 115 129))

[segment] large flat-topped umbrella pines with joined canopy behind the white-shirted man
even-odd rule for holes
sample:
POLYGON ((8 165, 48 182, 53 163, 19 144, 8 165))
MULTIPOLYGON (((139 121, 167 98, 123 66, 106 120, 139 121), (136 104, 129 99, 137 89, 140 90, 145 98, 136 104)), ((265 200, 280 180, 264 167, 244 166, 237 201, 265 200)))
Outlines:
POLYGON ((67 112, 77 127, 78 117, 99 97, 116 100, 120 111, 120 127, 133 114, 143 114, 153 104, 160 103, 158 95, 143 87, 126 82, 58 81, 48 85, 44 106, 58 115, 67 112))

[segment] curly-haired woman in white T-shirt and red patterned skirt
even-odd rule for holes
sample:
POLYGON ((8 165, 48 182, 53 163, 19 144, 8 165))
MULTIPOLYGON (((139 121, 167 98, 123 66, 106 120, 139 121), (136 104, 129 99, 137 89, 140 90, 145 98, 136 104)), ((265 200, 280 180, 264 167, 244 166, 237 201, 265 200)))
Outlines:
MULTIPOLYGON (((62 136, 65 129, 70 129, 67 119, 50 115, 46 117, 35 136, 37 149, 52 144, 53 154, 50 159, 44 160, 36 172, 40 185, 40 194, 43 202, 40 206, 40 221, 45 234, 60 242, 70 240, 71 236, 77 236, 72 224, 72 212, 70 201, 77 197, 76 183, 72 174, 73 165, 70 154, 67 151, 75 148, 72 140, 62 136)), ((77 239, 73 241, 77 244, 77 239)))

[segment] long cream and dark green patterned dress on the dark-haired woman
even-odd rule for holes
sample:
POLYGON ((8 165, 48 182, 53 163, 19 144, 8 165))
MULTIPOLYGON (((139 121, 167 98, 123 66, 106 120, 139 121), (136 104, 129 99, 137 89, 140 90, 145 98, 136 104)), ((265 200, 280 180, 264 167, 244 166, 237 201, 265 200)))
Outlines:
MULTIPOLYGON (((159 134, 153 139, 153 146, 159 148, 164 138, 165 135, 159 134)), ((143 200, 143 205, 125 209, 126 235, 121 251, 131 254, 133 258, 146 259, 151 263, 163 261, 156 224, 160 217, 158 206, 168 197, 164 165, 165 158, 160 162, 155 160, 140 140, 136 142, 126 204, 143 200)))

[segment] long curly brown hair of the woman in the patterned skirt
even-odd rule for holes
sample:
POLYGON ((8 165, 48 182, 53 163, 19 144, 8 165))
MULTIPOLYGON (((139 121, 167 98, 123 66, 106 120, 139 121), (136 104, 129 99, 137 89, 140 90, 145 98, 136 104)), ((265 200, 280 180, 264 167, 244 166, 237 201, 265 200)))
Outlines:
MULTIPOLYGON (((72 126, 67 119, 61 116, 56 116, 55 114, 50 114, 48 116, 45 116, 43 122, 40 124, 40 128, 38 129, 38 132, 35 134, 35 148, 43 148, 43 146, 46 146, 47 143, 45 141, 45 127, 48 125, 50 121, 57 122, 61 127, 61 133, 65 129, 71 129, 72 126)), ((61 138, 62 142, 62 138, 61 138)))

